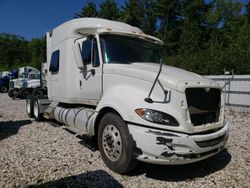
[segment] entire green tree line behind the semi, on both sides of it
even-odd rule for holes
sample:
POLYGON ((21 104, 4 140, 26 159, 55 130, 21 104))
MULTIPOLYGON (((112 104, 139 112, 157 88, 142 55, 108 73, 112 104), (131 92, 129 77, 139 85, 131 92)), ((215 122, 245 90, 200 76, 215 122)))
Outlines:
MULTIPOLYGON (((199 74, 250 73, 250 3, 235 0, 89 1, 74 18, 126 22, 164 41, 164 62, 199 74)), ((45 39, 0 35, 0 68, 45 61, 45 39), (7 40, 7 44, 5 44, 7 40), (17 44, 17 43, 18 44, 17 44), (4 67, 5 66, 5 67, 4 67)))

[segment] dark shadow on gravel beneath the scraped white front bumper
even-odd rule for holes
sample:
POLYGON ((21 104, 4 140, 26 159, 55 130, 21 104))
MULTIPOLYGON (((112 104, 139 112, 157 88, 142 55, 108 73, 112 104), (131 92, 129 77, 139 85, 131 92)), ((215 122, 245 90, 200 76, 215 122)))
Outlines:
POLYGON ((192 164, 185 165, 154 165, 139 162, 136 169, 128 176, 145 174, 146 177, 163 181, 185 181, 188 179, 202 178, 225 168, 232 156, 226 149, 217 155, 192 164))

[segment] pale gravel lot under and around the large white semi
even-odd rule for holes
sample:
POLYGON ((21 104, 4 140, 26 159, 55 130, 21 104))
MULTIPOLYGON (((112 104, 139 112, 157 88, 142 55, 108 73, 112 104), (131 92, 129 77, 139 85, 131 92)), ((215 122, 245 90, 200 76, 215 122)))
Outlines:
POLYGON ((129 175, 110 171, 99 151, 25 113, 25 100, 0 93, 0 187, 250 187, 250 108, 227 108, 226 149, 182 166, 139 163, 129 175))

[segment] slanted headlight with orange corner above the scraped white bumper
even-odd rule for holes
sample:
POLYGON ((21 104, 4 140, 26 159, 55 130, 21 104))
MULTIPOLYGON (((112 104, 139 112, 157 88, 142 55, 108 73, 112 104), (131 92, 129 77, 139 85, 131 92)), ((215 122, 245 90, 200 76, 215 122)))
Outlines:
POLYGON ((135 112, 143 119, 150 121, 152 123, 169 125, 169 126, 179 126, 179 123, 176 119, 164 112, 160 112, 157 110, 139 108, 136 109, 135 112))

